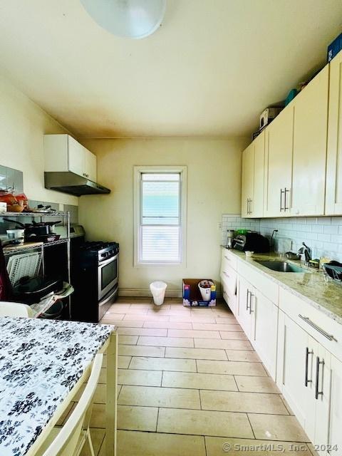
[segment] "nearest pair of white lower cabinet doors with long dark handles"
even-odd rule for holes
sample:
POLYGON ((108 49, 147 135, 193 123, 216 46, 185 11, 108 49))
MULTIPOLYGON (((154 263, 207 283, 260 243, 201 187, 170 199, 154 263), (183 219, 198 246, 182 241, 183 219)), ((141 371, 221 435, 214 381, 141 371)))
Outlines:
POLYGON ((277 385, 319 455, 342 455, 342 363, 279 310, 277 385))

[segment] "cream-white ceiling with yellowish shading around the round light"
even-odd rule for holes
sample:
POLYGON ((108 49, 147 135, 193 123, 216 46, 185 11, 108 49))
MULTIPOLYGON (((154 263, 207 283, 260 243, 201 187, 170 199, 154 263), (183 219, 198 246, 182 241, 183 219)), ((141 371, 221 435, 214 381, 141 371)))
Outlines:
POLYGON ((168 0, 136 41, 79 0, 0 0, 0 72, 80 138, 246 135, 341 26, 341 0, 168 0))

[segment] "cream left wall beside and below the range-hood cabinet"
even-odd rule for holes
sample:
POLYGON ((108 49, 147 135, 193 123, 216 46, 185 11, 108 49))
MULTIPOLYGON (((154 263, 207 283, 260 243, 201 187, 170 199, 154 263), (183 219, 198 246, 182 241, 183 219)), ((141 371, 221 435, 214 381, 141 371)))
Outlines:
POLYGON ((78 198, 44 187, 43 135, 68 132, 4 78, 0 100, 0 165, 24 173, 28 198, 77 205, 78 198))

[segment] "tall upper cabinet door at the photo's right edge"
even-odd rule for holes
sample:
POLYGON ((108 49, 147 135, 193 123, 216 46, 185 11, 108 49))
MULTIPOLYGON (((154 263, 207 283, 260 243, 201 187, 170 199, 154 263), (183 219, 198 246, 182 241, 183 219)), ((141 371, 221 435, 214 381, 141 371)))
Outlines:
POLYGON ((329 78, 326 214, 342 214, 342 51, 333 58, 329 78))

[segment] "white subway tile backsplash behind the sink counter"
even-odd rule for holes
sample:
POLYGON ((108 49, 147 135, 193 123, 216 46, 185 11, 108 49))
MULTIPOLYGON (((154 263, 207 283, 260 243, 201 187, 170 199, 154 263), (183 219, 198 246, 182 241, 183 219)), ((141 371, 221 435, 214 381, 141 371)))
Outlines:
POLYGON ((342 261, 342 217, 294 217, 284 219, 242 219, 240 214, 222 215, 222 244, 227 240, 227 229, 247 228, 275 237, 275 249, 297 252, 301 243, 312 249, 312 257, 326 256, 342 261))

